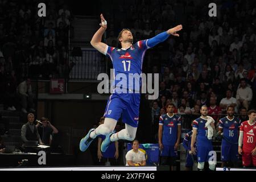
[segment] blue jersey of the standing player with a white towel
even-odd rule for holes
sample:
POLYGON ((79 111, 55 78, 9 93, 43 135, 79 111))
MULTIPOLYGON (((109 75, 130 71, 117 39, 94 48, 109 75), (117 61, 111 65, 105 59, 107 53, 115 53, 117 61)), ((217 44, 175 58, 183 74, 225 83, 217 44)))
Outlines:
POLYGON ((205 127, 205 123, 207 123, 207 119, 203 119, 201 117, 193 121, 193 129, 197 130, 197 146, 212 146, 212 140, 207 138, 208 129, 205 127))

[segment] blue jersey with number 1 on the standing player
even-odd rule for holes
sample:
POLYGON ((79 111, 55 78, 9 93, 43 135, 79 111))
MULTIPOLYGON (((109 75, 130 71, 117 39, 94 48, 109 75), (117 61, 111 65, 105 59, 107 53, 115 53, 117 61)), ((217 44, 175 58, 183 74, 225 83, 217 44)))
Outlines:
POLYGON ((159 125, 163 125, 163 145, 174 146, 177 142, 177 127, 181 125, 180 115, 169 117, 168 114, 163 114, 159 118, 159 125))

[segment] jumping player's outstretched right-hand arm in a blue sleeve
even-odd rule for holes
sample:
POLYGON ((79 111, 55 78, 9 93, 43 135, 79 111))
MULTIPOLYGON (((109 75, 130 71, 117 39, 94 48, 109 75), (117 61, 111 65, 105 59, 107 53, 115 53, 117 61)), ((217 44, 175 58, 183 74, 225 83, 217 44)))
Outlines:
POLYGON ((148 39, 147 46, 154 47, 156 44, 164 42, 164 40, 166 40, 170 35, 179 36, 177 32, 180 31, 181 29, 182 29, 181 24, 174 28, 170 28, 169 30, 154 36, 154 38, 148 39))

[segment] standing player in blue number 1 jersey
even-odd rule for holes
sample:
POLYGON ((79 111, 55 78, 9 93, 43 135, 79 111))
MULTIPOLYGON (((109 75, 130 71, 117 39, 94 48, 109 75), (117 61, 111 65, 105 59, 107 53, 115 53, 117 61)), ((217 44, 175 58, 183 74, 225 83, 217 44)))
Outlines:
POLYGON ((175 170, 177 147, 180 144, 181 119, 180 115, 174 114, 174 104, 167 105, 167 114, 159 118, 158 143, 161 156, 161 165, 170 165, 175 170))

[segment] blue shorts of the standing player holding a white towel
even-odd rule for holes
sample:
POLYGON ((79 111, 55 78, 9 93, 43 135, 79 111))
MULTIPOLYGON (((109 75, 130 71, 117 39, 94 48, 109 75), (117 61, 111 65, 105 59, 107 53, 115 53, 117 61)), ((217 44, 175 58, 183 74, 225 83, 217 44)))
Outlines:
POLYGON ((212 156, 210 151, 213 151, 212 145, 200 145, 196 147, 197 162, 208 162, 209 158, 212 156))

